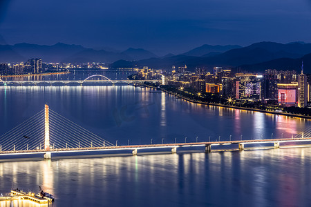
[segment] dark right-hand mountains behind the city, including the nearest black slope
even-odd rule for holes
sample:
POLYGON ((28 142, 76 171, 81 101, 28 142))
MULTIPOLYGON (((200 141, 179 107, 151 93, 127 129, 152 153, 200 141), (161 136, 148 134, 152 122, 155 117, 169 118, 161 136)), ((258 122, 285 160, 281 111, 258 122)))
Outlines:
MULTIPOLYGON (((202 54, 202 53, 201 53, 202 54)), ((200 55, 201 55, 200 54, 200 55)), ((208 53, 207 53, 208 54, 208 53)), ((234 48, 216 55, 200 57, 175 55, 164 58, 150 58, 140 61, 116 61, 111 68, 119 66, 149 66, 150 68, 170 69, 172 66, 185 66, 212 69, 216 66, 239 68, 249 72, 263 72, 268 68, 279 70, 301 70, 304 61, 305 71, 311 72, 311 43, 260 42, 243 48, 234 48)))

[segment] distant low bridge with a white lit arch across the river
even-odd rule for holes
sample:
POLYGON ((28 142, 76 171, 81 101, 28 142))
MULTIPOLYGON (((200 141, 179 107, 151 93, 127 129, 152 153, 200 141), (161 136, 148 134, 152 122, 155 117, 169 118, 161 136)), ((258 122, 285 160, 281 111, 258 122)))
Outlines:
POLYGON ((19 85, 19 86, 28 86, 28 85, 48 85, 48 86, 55 86, 59 84, 63 84, 65 86, 67 85, 92 85, 92 84, 100 84, 100 85, 115 85, 115 84, 135 84, 135 83, 144 83, 144 82, 152 82, 152 83, 158 83, 160 80, 113 80, 109 79, 108 77, 104 75, 91 75, 90 77, 87 77, 86 79, 79 79, 79 80, 69 80, 69 79, 41 79, 41 80, 1 80, 0 83, 3 83, 4 85, 19 85))

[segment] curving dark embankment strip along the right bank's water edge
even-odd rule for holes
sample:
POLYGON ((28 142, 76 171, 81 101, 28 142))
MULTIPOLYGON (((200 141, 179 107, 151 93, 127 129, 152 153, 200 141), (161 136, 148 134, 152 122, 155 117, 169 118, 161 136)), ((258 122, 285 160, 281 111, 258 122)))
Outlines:
MULTIPOLYGON (((146 86, 147 88, 156 88, 153 86, 146 86)), ((183 99, 185 101, 189 101, 191 103, 198 103, 198 104, 202 104, 202 105, 207 105, 207 106, 218 106, 218 107, 223 107, 223 108, 233 108, 233 109, 240 109, 240 110, 249 110, 249 111, 255 111, 255 112, 263 112, 266 114, 272 114, 272 115, 283 115, 286 117, 295 117, 295 118, 302 118, 302 119, 311 119, 311 117, 309 116, 305 116, 305 115, 295 115, 295 114, 290 114, 290 113, 286 113, 286 112, 275 112, 275 111, 267 111, 267 110, 261 110, 258 108, 245 108, 245 107, 241 107, 241 106, 229 106, 229 105, 224 105, 221 103, 207 103, 207 102, 202 102, 202 101, 194 101, 191 99, 188 99, 186 97, 182 97, 181 95, 178 95, 176 93, 170 92, 168 90, 164 90, 161 88, 161 90, 163 92, 167 92, 170 95, 173 95, 175 97, 179 97, 180 99, 183 99)))

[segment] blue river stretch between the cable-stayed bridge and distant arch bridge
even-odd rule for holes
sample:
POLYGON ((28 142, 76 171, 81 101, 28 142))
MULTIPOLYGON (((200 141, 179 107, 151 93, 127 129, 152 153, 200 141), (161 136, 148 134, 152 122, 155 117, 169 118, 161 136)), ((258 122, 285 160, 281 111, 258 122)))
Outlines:
POLYGON ((51 109, 118 144, 169 143, 292 137, 310 121, 279 115, 204 106, 133 86, 0 87, 0 134, 41 110, 51 109), (125 135, 125 136, 124 136, 125 135))

